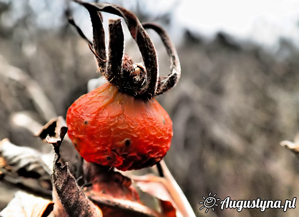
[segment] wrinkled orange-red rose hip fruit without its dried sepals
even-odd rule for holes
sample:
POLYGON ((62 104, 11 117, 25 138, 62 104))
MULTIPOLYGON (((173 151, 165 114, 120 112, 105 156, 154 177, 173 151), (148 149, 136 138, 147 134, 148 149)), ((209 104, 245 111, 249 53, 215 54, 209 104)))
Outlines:
POLYGON ((86 161, 122 171, 161 161, 173 136, 172 121, 157 100, 135 99, 110 83, 77 99, 66 122, 86 161))

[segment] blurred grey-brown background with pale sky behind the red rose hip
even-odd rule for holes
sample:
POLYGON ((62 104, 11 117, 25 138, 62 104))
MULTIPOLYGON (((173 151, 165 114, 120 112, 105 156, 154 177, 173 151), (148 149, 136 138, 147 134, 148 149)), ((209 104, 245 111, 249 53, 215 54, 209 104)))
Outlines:
MULTIPOLYGON (((160 24, 176 45, 180 82, 158 97, 173 120, 165 161, 196 215, 297 216, 298 208, 238 213, 218 206, 205 213, 198 203, 210 192, 221 200, 284 201, 299 195, 299 160, 280 146, 299 130, 299 3, 106 2, 131 10, 141 22, 160 24)), ((99 77, 93 54, 67 15, 92 39, 88 11, 78 4, 0 0, 0 140, 42 150, 39 139, 22 127, 28 120, 16 115, 30 117, 32 128, 65 117, 74 100, 86 93, 87 82, 99 77), (47 106, 39 108, 36 99, 47 106)), ((115 16, 103 15, 107 27, 115 16)), ((149 35, 158 51, 160 74, 166 75, 167 53, 156 33, 149 35)), ((125 40, 125 52, 140 62, 128 31, 125 40)), ((13 193, 0 183, 0 210, 13 193)))

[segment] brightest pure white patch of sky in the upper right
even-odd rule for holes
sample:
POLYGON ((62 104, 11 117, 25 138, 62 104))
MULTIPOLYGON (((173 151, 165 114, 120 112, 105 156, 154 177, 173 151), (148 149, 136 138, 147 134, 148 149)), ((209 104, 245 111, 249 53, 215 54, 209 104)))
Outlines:
POLYGON ((176 19, 194 33, 222 30, 266 47, 283 36, 299 47, 299 0, 184 0, 176 10, 176 19))

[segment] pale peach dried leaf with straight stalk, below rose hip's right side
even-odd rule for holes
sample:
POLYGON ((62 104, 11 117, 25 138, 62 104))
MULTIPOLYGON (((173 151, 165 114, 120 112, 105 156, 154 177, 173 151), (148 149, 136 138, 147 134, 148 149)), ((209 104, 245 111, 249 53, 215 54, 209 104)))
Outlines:
POLYGON ((164 161, 160 161, 164 177, 158 177, 152 174, 144 176, 131 176, 133 182, 144 192, 160 199, 161 206, 166 214, 174 216, 173 208, 176 209, 176 216, 195 217, 195 214, 182 192, 179 185, 174 180, 164 161), (168 203, 170 202, 170 204, 168 203))

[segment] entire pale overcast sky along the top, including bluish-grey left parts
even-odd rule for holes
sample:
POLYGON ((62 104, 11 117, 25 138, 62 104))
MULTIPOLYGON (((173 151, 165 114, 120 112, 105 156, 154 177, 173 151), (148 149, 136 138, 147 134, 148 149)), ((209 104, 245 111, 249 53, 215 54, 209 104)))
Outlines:
MULTIPOLYGON (((89 0, 93 1, 93 0, 89 0)), ((100 0, 102 1, 102 0, 100 0)), ((299 48, 299 0, 103 0, 120 4, 129 10, 141 10, 149 18, 172 11, 168 29, 174 42, 187 28, 194 34, 213 39, 223 31, 240 40, 251 40, 268 48, 275 48, 280 37, 291 40, 299 48), (141 7, 137 7, 137 2, 141 7)), ((68 0, 0 0, 10 3, 11 11, 2 14, 1 23, 13 26, 23 19, 29 8, 39 28, 53 29, 62 25, 68 0)), ((77 24, 92 37, 87 10, 72 2, 77 24)), ((106 15, 107 16, 107 15, 106 15)), ((158 22, 157 20, 155 22, 158 22)))

